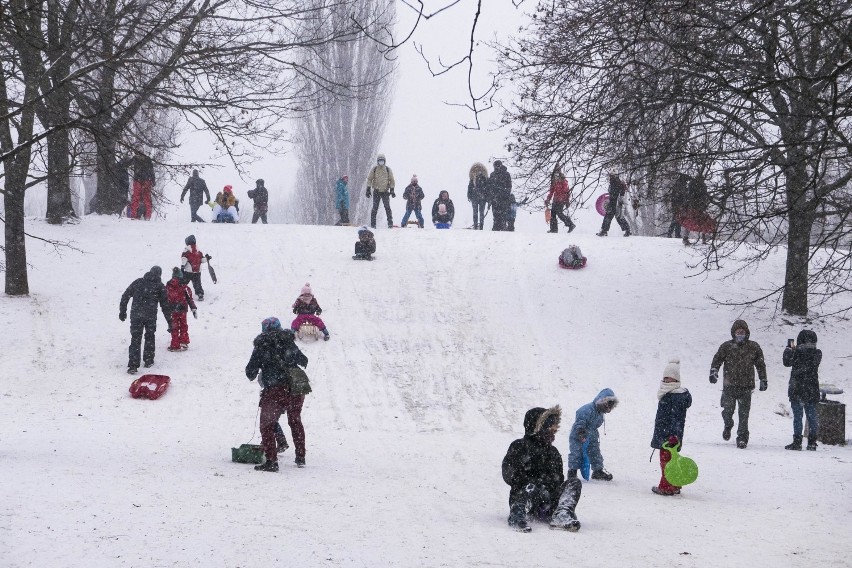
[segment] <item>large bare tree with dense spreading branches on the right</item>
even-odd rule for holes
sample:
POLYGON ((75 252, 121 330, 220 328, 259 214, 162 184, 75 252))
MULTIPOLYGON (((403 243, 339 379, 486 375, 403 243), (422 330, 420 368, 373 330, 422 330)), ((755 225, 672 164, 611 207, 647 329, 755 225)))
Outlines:
POLYGON ((809 290, 825 298, 850 277, 850 29, 848 0, 542 2, 504 46, 521 86, 513 151, 527 172, 701 172, 719 220, 705 266, 743 243, 747 263, 786 245, 783 283, 757 299, 806 315, 809 290), (815 234, 824 215, 843 221, 815 234))

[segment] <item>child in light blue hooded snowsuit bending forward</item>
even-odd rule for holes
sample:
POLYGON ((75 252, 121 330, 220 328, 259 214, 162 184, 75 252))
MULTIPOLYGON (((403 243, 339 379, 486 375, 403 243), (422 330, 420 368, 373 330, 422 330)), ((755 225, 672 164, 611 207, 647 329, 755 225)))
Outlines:
POLYGON ((568 477, 577 477, 577 470, 583 467, 583 443, 588 440, 592 479, 612 481, 612 474, 603 468, 598 428, 604 423, 604 414, 612 412, 617 404, 618 399, 612 389, 604 389, 595 400, 577 409, 568 438, 568 477))

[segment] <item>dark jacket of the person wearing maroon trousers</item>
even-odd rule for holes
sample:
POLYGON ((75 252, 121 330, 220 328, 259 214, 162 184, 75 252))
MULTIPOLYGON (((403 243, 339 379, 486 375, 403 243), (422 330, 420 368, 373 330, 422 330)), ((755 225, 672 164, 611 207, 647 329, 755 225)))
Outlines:
POLYGON ((273 329, 255 337, 246 377, 253 381, 261 371, 261 387, 288 386, 288 369, 308 365, 308 358, 296 346, 293 337, 289 329, 273 329))

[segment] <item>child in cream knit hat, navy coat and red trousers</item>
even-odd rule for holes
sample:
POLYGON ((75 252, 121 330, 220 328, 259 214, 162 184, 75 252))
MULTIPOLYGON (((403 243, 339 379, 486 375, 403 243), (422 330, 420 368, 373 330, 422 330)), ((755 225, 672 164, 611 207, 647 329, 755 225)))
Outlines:
POLYGON ((683 431, 686 427, 686 410, 692 406, 692 395, 680 384, 680 360, 672 359, 663 371, 663 380, 657 390, 657 416, 654 418, 654 435, 651 447, 660 450, 660 469, 663 475, 659 485, 651 488, 657 495, 677 495, 680 487, 672 485, 666 479, 666 464, 672 454, 663 448, 663 444, 674 447, 683 446, 683 431))

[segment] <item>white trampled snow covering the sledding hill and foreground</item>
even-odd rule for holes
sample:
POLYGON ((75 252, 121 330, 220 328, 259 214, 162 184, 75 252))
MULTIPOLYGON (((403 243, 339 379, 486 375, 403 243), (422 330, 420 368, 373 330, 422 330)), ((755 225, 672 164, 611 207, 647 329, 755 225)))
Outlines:
MULTIPOLYGON (((774 413, 801 325, 709 300, 766 287, 783 258, 735 281, 686 278, 694 253, 676 239, 599 239, 595 217, 548 235, 534 217, 514 234, 380 229, 371 263, 350 260, 353 228, 30 221, 84 253, 30 240, 31 296, 0 297, 0 566, 848 566, 852 454, 784 451, 792 419, 774 413), (190 232, 220 282, 204 274, 189 351, 165 350, 160 320, 151 371, 172 386, 133 400, 119 298, 153 264, 168 275, 190 232), (557 267, 569 242, 585 270, 557 267), (305 282, 332 335, 303 347, 308 467, 290 449, 279 473, 255 472, 230 461, 259 441, 243 370, 260 321, 288 322, 305 282), (741 316, 769 369, 747 450, 722 441, 721 386, 707 381, 741 316), (672 356, 701 474, 661 498, 649 441, 672 356), (582 530, 510 531, 500 462, 524 412, 562 406, 567 456, 574 410, 607 386, 622 401, 602 436, 615 480, 584 484, 582 530)), ((852 325, 814 329, 821 377, 848 400, 852 325)))

